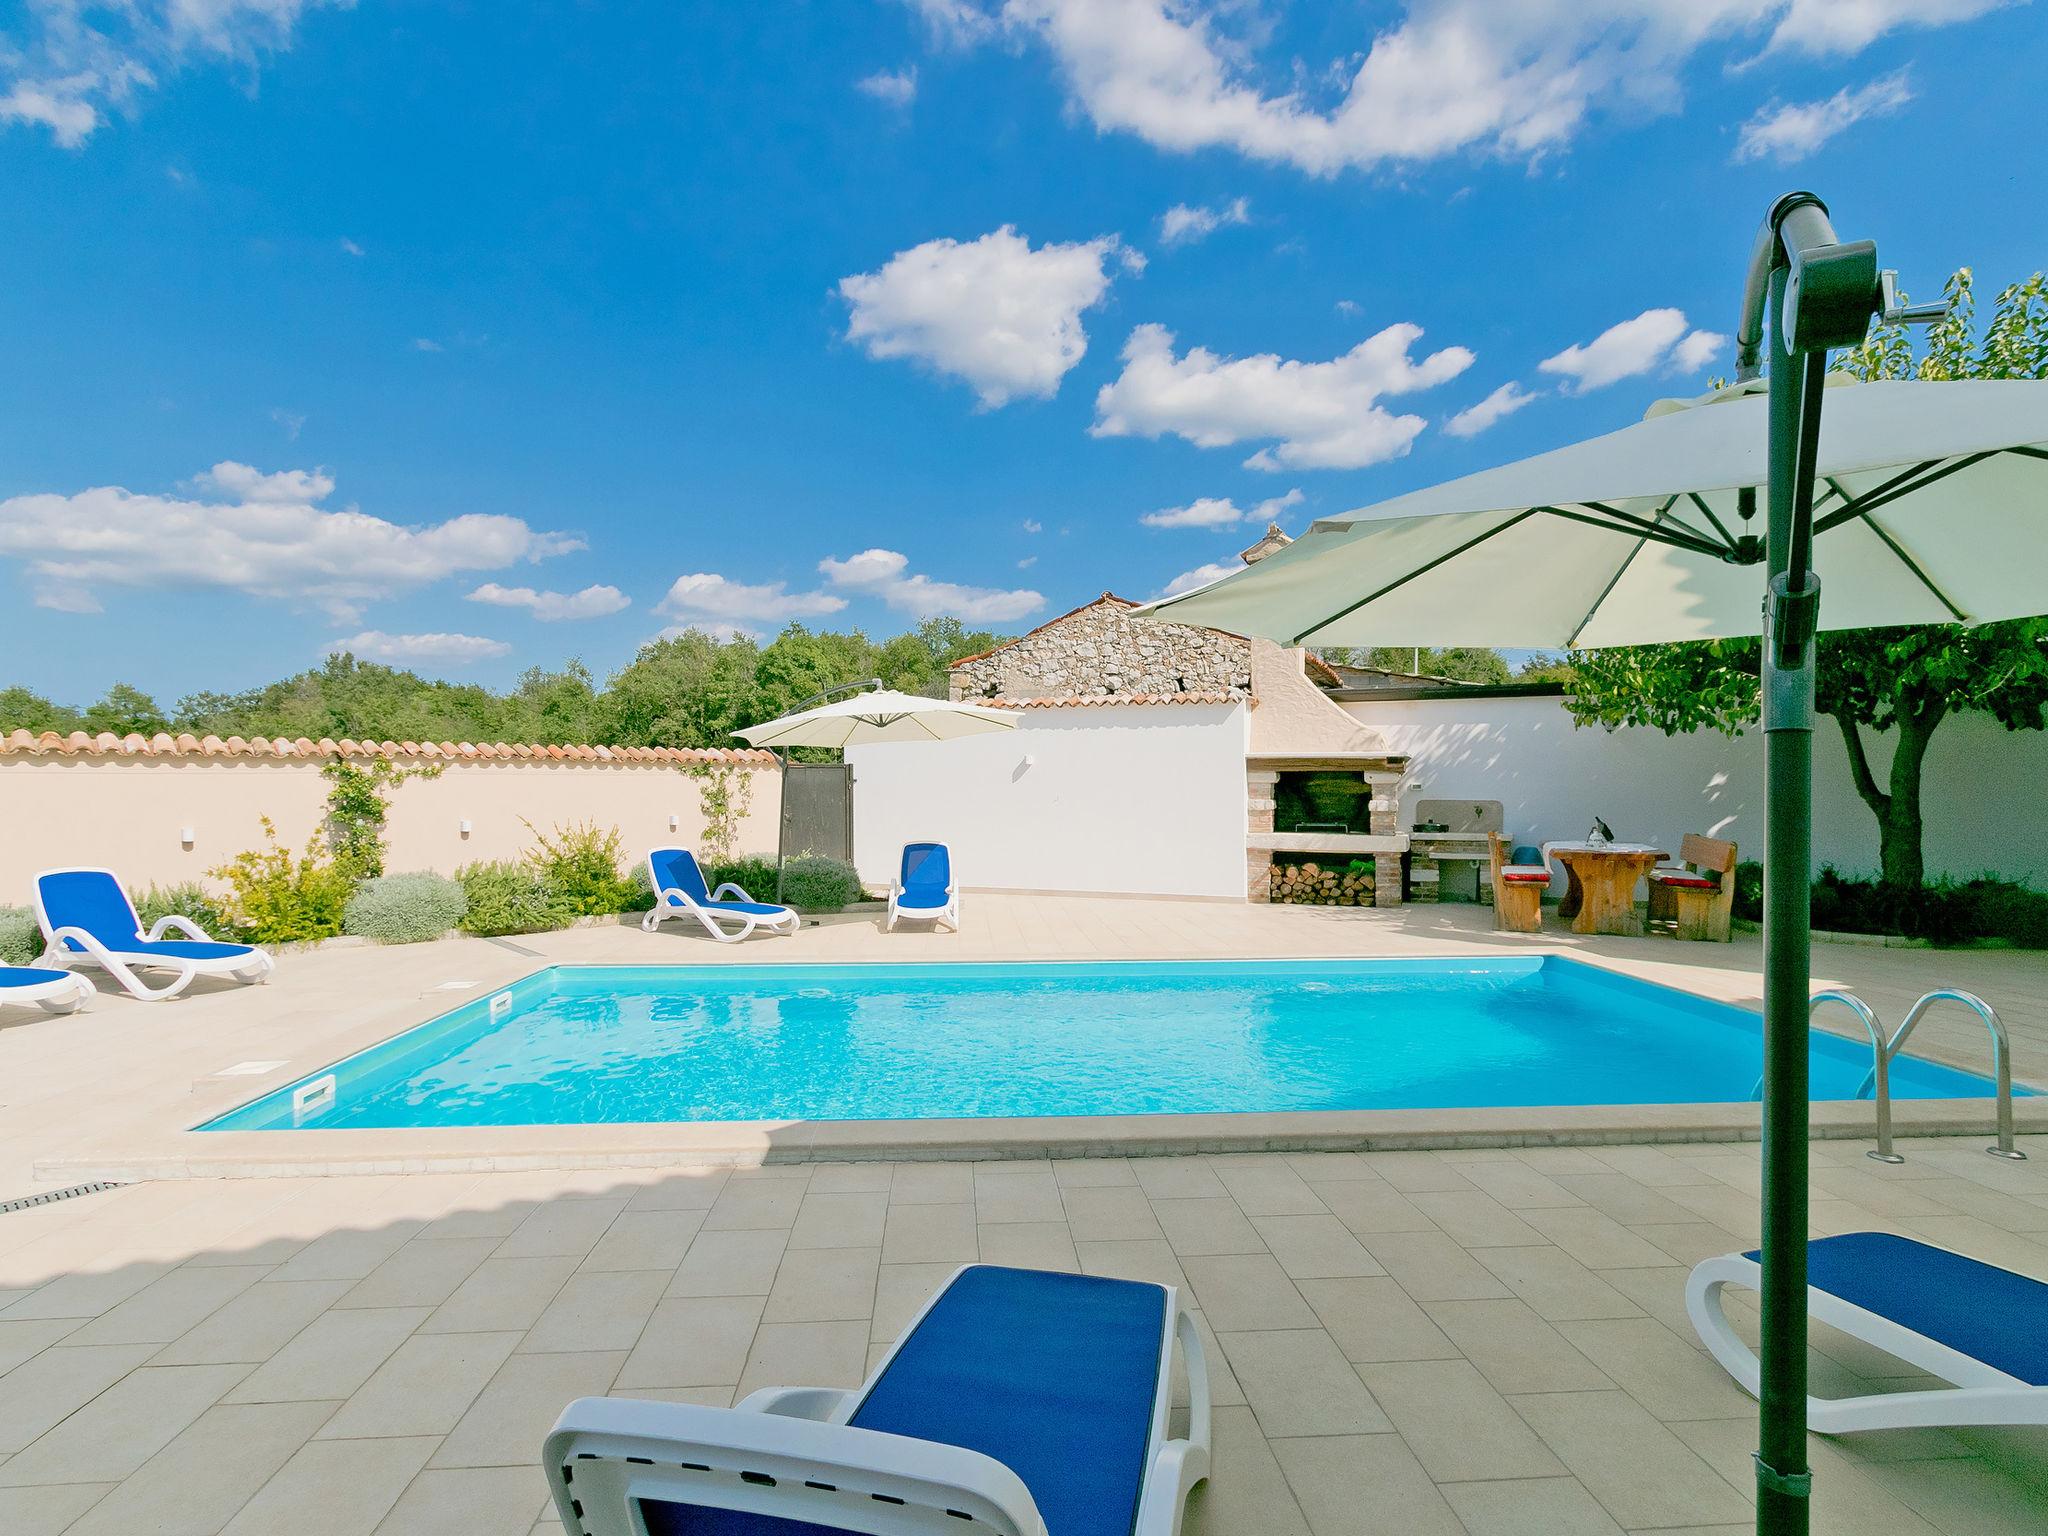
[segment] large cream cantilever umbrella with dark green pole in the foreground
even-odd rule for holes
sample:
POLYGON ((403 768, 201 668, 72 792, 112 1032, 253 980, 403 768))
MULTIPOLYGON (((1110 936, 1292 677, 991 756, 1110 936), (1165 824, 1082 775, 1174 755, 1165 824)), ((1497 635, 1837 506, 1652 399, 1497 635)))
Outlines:
POLYGON ((1763 633, 1763 1241, 1757 1530, 1804 1536, 1812 637, 2048 610, 2048 383, 1827 389, 1870 317, 1927 322, 1810 193, 1751 252, 1737 377, 1759 385, 1315 524, 1137 610, 1286 643, 1626 645, 1763 633), (1767 516, 1755 524, 1757 492, 1767 516), (1751 569, 1745 569, 1751 567, 1751 569), (1761 569, 1757 569, 1761 567, 1761 569), (1757 578, 1763 580, 1757 580, 1757 578), (1761 604, 1759 604, 1761 600, 1761 604))

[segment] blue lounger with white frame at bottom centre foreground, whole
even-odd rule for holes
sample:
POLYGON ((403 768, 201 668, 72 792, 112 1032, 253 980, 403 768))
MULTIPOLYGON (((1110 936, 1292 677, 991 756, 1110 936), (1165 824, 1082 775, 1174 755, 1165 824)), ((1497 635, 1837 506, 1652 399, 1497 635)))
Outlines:
POLYGON ((1208 1475, 1208 1372, 1171 1286, 969 1264, 860 1391, 586 1397, 541 1456, 569 1536, 1174 1536, 1208 1475))

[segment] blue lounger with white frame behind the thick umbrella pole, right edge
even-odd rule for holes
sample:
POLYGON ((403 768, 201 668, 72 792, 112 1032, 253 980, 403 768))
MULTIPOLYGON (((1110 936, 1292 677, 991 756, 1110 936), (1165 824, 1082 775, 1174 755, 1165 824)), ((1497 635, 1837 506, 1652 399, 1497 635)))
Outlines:
MULTIPOLYGON (((1755 1290, 1757 1253, 1704 1260, 1686 1282, 1700 1341, 1745 1393, 1757 1356, 1729 1325, 1724 1286, 1755 1290)), ((1808 1397, 1819 1434, 1964 1423, 2048 1423, 2048 1284, 1913 1237, 1843 1233, 1806 1245, 1806 1307, 1817 1323, 1954 1382, 1872 1397, 1808 1397)))

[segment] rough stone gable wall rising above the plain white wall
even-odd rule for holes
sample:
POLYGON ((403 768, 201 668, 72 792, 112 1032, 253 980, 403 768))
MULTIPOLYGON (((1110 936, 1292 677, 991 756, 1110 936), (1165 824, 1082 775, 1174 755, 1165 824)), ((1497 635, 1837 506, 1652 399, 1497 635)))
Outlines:
POLYGON ((1079 698, 1251 690, 1251 641, 1130 618, 1104 596, 1001 649, 952 668, 954 698, 1079 698))

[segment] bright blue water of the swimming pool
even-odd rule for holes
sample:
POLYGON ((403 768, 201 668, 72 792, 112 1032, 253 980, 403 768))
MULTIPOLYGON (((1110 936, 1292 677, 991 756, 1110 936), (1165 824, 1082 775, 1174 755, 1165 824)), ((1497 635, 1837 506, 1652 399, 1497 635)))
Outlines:
MULTIPOLYGON (((1556 956, 555 967, 201 1128, 1714 1104, 1759 1038, 1556 956)), ((1817 1100, 1868 1067, 1812 1036, 1817 1100)), ((1901 1057, 1892 1094, 1991 1083, 1901 1057)))

